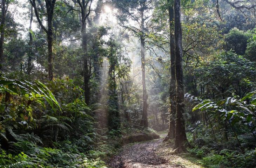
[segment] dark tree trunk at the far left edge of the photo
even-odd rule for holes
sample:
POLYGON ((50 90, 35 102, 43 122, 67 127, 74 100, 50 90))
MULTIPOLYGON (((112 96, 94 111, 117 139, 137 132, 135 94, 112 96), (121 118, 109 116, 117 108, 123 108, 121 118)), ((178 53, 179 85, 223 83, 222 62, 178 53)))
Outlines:
POLYGON ((2 0, 2 19, 0 24, 0 71, 3 71, 4 64, 4 38, 5 38, 5 19, 6 19, 6 10, 8 5, 6 5, 5 0, 2 0))

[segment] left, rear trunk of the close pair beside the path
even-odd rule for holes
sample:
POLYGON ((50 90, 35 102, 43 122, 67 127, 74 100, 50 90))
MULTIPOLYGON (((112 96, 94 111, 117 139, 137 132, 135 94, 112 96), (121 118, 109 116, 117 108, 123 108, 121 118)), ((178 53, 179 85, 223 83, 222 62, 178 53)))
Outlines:
POLYGON ((173 19, 174 19, 174 10, 173 5, 168 2, 168 12, 169 12, 169 29, 170 29, 170 57, 171 57, 171 80, 170 80, 170 123, 169 123, 169 132, 164 138, 164 141, 168 139, 175 138, 175 113, 176 113, 176 77, 175 77, 175 42, 174 35, 172 33, 173 28, 173 19))

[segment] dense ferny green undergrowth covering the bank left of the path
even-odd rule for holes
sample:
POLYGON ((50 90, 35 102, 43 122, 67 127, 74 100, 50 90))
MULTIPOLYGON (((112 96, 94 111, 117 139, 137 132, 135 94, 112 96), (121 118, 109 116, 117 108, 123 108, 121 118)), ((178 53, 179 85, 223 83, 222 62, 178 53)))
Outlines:
POLYGON ((46 85, 1 82, 0 168, 105 168, 124 135, 153 132, 125 119, 116 130, 103 127, 94 105, 85 104, 83 90, 68 78, 46 85))

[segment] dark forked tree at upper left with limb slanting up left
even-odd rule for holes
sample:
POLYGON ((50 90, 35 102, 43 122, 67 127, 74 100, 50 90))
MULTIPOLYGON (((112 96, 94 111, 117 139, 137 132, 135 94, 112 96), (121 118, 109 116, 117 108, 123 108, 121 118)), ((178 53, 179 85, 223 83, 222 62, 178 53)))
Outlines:
MULTIPOLYGON (((36 19, 38 20, 39 25, 42 30, 47 34, 48 41, 48 80, 53 80, 53 12, 56 0, 45 0, 46 11, 47 11, 47 29, 43 26, 43 23, 40 19, 37 5, 35 0, 29 0, 31 5, 34 8, 36 19)), ((41 6, 42 7, 42 6, 41 6)))

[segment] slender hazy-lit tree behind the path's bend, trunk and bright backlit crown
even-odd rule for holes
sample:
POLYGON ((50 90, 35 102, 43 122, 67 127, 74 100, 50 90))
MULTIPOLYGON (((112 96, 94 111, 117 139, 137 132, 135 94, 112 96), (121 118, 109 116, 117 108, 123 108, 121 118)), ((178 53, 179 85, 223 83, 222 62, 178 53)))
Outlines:
POLYGON ((141 49, 141 71, 142 71, 142 90, 143 90, 143 110, 142 119, 140 125, 143 127, 148 127, 148 94, 146 88, 145 80, 145 52, 146 52, 146 34, 148 33, 148 28, 150 27, 150 20, 152 15, 150 11, 153 9, 152 0, 113 0, 114 6, 120 10, 119 18, 120 25, 128 30, 133 31, 140 39, 140 49, 141 49), (135 22, 138 26, 130 24, 129 20, 135 22))

